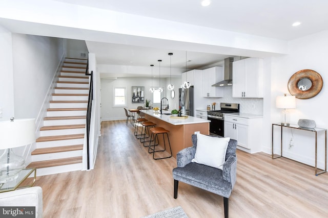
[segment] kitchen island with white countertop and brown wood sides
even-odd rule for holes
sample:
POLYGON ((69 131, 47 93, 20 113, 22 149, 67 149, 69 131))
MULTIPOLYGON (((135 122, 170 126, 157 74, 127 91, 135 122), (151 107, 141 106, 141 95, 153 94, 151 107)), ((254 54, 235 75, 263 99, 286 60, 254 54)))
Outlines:
MULTIPOLYGON (((142 110, 145 118, 156 124, 156 127, 162 127, 170 131, 170 143, 172 155, 176 158, 176 153, 184 148, 191 147, 191 135, 199 131, 201 134, 210 134, 210 120, 188 116, 186 119, 171 118, 171 115, 160 114, 154 110, 142 110)), ((169 113, 166 111, 163 113, 169 113)), ((162 139, 159 137, 159 143, 162 139)))

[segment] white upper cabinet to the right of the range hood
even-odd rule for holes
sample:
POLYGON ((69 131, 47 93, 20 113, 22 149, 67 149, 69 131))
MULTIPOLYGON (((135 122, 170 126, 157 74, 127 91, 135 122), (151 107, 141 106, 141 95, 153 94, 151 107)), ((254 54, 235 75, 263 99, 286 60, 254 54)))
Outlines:
POLYGON ((263 98, 263 59, 234 61, 232 70, 234 98, 263 98))

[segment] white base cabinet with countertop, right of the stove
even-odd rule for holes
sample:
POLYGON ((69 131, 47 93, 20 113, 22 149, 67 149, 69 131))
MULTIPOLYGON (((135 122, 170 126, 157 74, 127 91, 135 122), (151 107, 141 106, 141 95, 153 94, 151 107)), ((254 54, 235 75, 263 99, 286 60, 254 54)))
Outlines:
POLYGON ((261 151, 262 117, 244 118, 224 115, 224 137, 238 141, 238 149, 256 153, 261 151))

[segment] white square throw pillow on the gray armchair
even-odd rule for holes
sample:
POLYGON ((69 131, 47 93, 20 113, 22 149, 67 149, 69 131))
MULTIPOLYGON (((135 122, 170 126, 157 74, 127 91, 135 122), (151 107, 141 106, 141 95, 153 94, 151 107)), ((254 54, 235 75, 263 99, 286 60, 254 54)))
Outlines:
POLYGON ((197 134, 195 158, 191 162, 223 169, 230 138, 219 138, 197 134))

